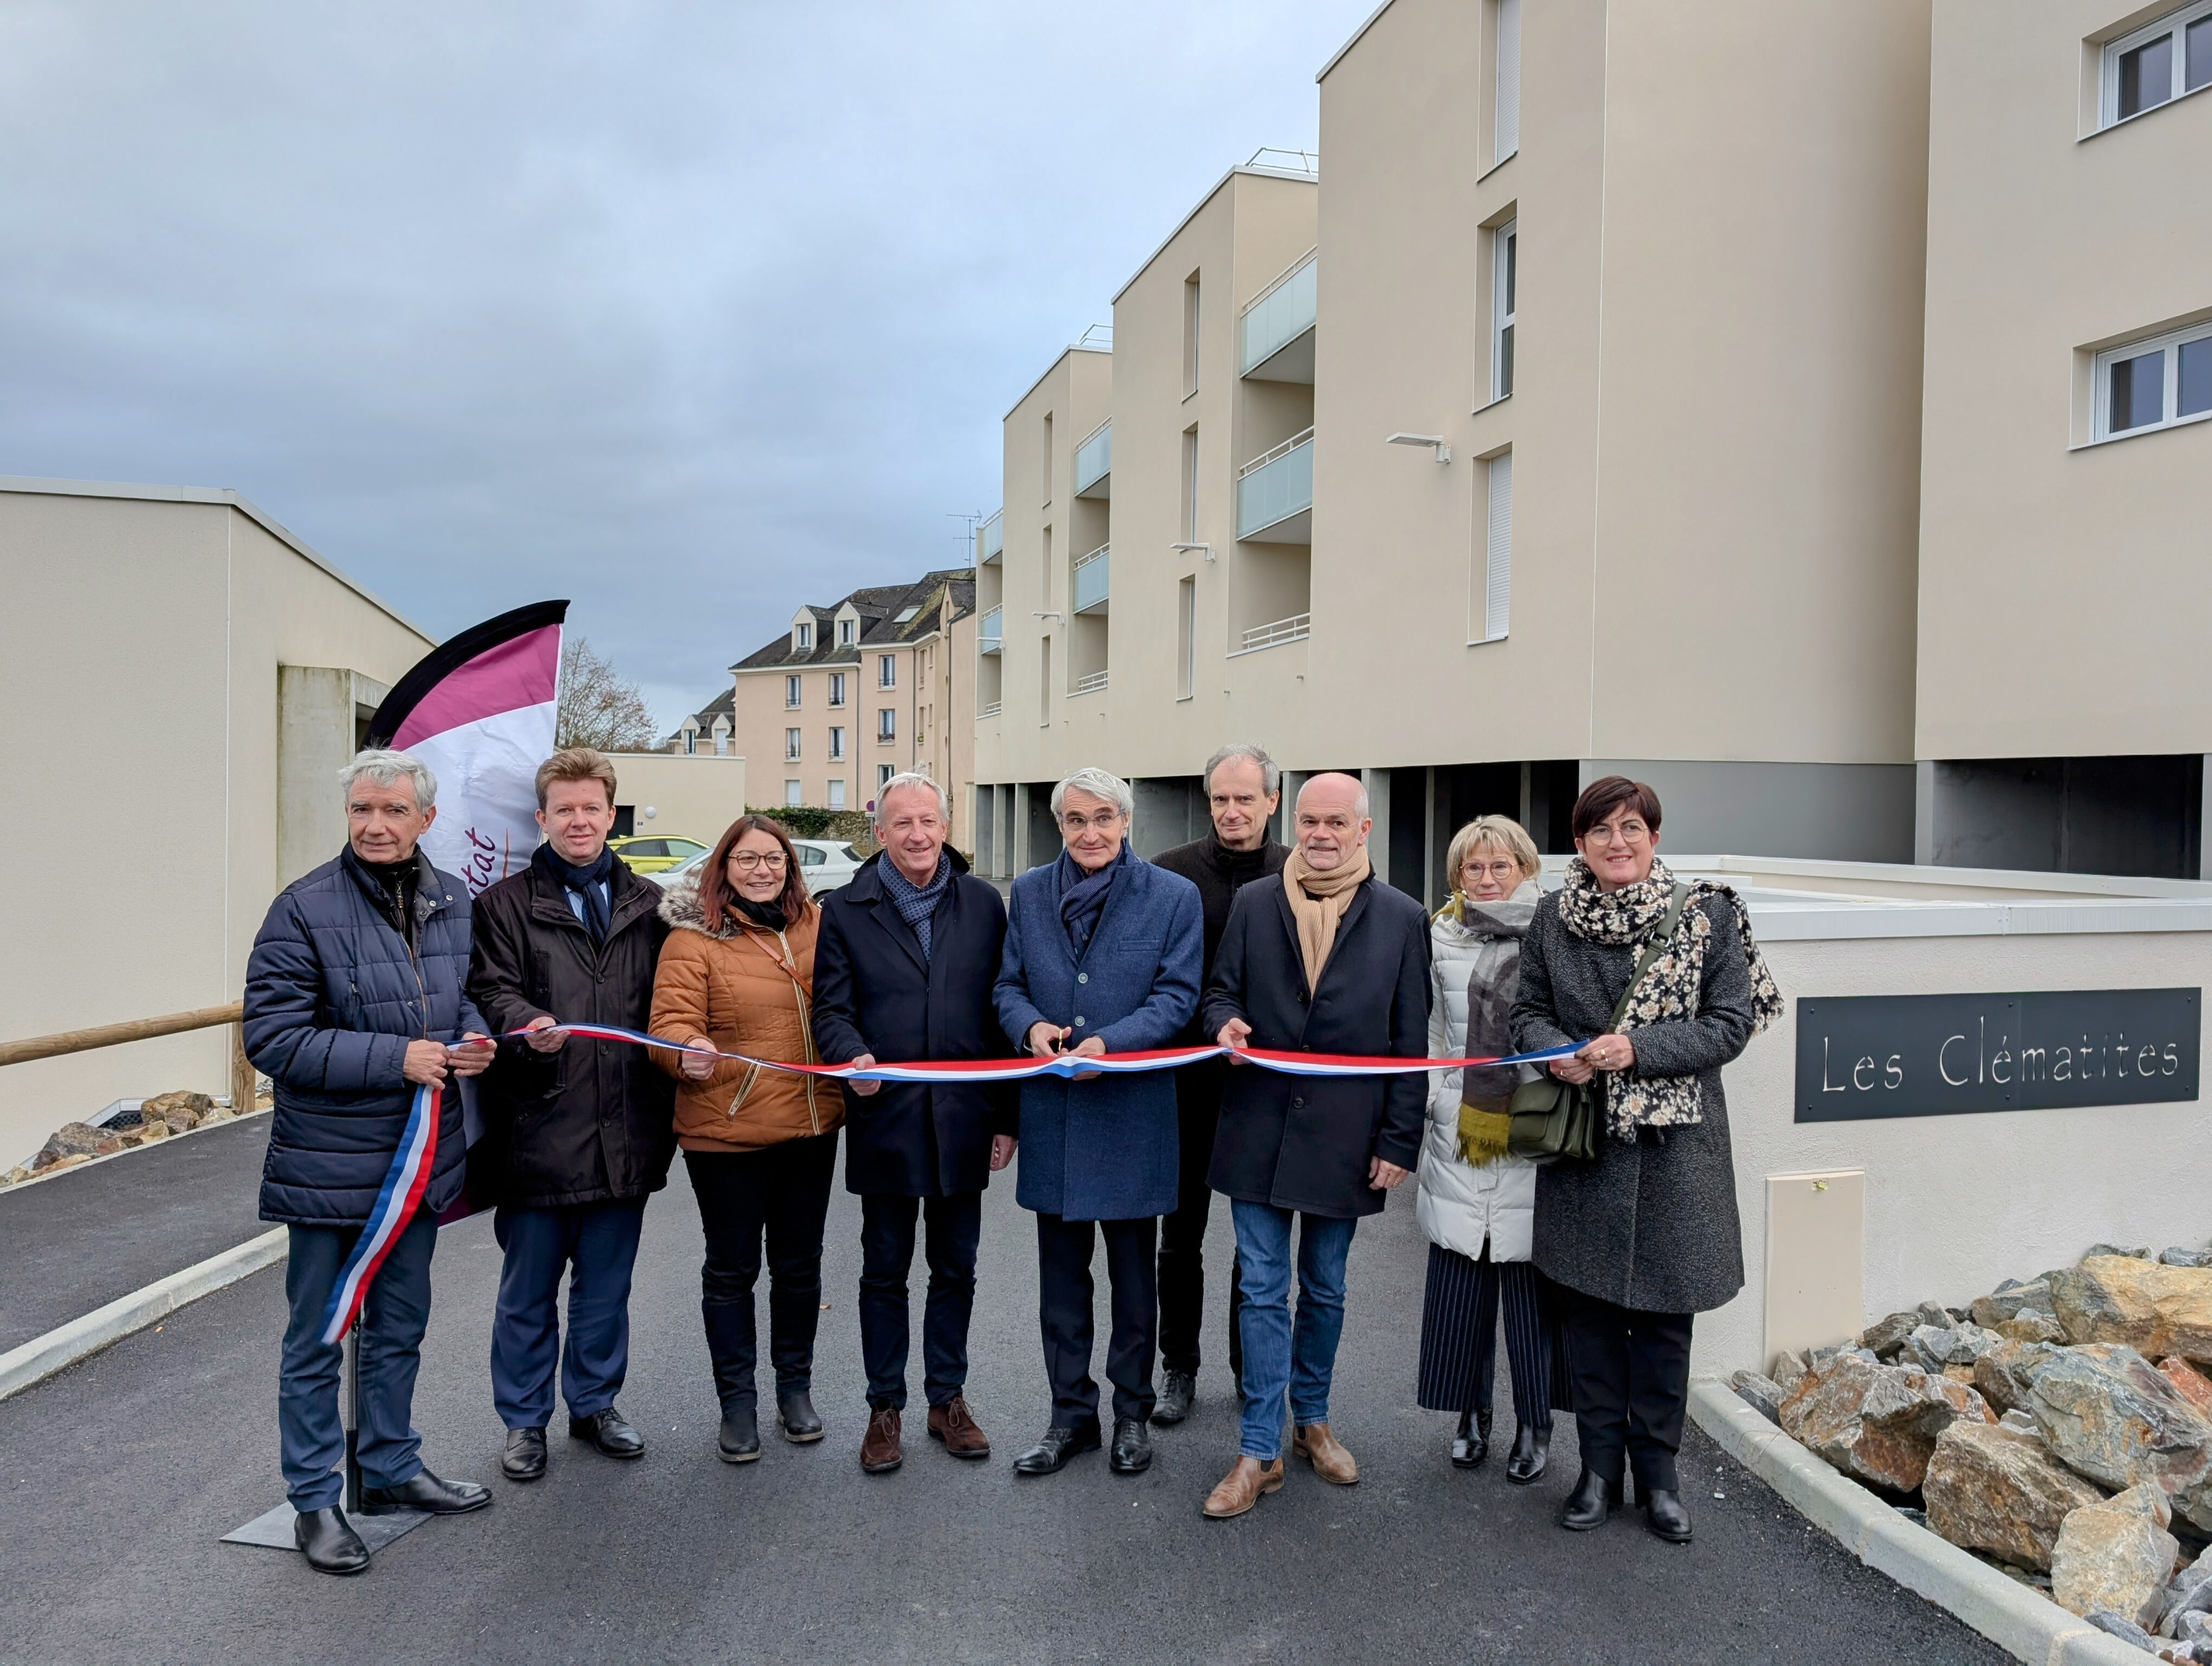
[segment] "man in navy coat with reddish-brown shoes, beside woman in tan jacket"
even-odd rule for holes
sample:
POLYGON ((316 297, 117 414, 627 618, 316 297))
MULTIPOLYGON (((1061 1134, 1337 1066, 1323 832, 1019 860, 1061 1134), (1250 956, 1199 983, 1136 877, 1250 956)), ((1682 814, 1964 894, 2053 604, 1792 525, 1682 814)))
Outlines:
MULTIPOLYGON (((830 1064, 1006 1058, 991 985, 1006 905, 947 850, 951 805, 927 774, 876 790, 883 850, 823 900, 814 940, 814 1049, 830 1064)), ((860 1195, 860 1358, 867 1434, 860 1467, 905 1458, 907 1268, 925 1221, 922 1392, 929 1438, 956 1458, 989 1458, 967 1405, 967 1330, 975 1305, 982 1193, 1013 1162, 1006 1082, 847 1082, 845 1190, 860 1195)))

